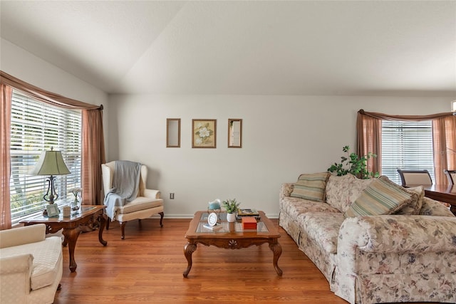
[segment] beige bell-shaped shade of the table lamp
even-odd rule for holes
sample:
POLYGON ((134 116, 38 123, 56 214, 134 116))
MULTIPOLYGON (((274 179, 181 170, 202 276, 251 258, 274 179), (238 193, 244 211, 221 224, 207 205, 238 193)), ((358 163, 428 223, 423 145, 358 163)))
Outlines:
POLYGON ((63 175, 70 174, 70 170, 63 162, 62 152, 43 151, 38 162, 30 172, 31 175, 63 175))

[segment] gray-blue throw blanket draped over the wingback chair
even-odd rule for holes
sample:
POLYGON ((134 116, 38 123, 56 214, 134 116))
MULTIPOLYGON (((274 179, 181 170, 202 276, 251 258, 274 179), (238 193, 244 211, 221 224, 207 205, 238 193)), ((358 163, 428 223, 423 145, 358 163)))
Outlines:
POLYGON ((118 160, 115 162, 113 174, 113 188, 105 196, 104 204, 106 214, 111 221, 114 220, 117 206, 125 205, 127 201, 136 199, 140 187, 141 164, 128 160, 118 160))

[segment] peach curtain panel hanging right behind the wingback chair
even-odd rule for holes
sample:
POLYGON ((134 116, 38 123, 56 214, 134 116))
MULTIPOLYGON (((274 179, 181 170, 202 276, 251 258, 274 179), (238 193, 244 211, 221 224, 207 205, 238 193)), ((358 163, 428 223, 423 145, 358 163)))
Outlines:
POLYGON ((106 162, 102 110, 83 110, 83 204, 103 204, 101 164, 106 162))

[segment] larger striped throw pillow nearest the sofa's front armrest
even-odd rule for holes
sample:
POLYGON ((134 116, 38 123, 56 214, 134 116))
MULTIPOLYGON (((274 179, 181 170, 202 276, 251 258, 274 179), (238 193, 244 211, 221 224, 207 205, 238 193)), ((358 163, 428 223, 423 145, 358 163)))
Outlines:
POLYGON ((388 177, 382 176, 364 189, 343 215, 354 217, 393 214, 417 199, 418 194, 409 192, 391 182, 388 177))

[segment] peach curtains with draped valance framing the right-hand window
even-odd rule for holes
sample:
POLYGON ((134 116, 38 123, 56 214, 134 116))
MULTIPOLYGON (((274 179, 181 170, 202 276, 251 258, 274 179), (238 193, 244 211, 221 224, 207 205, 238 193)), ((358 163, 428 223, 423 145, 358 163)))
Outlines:
POLYGON ((372 163, 368 163, 368 170, 373 172, 381 170, 381 120, 432 120, 435 183, 447 184, 443 169, 456 169, 456 116, 452 115, 452 112, 431 115, 388 115, 359 110, 356 121, 357 153, 365 155, 367 152, 373 152, 378 155, 372 163))

